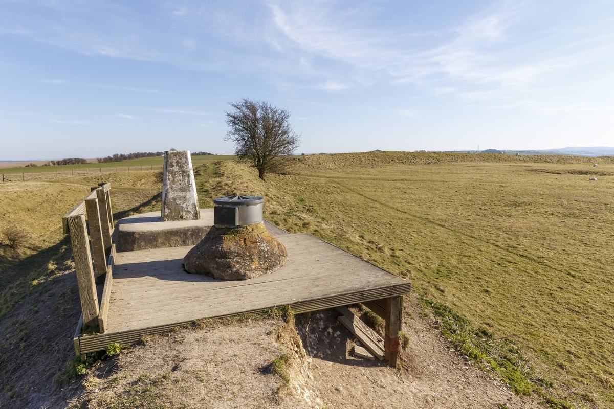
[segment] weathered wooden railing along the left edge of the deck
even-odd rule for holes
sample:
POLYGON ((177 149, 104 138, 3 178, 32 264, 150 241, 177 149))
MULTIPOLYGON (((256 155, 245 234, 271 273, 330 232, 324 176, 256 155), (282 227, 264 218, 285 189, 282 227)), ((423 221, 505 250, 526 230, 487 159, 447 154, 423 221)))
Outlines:
POLYGON ((75 260, 83 312, 80 323, 82 322, 84 328, 90 327, 101 332, 104 332, 106 326, 111 296, 111 266, 115 258, 115 246, 111 242, 113 213, 110 189, 109 183, 91 188, 91 193, 62 218, 64 234, 71 235, 72 256, 75 260), (85 224, 86 215, 90 225, 89 235, 85 224), (103 282, 103 297, 98 304, 96 283, 103 282))

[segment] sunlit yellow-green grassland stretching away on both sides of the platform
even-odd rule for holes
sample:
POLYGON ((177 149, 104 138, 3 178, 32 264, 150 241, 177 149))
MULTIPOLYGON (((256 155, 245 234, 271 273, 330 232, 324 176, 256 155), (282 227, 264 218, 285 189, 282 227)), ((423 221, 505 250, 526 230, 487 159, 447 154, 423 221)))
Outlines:
MULTIPOLYGON (((212 197, 262 195, 265 217, 284 229, 410 278, 422 296, 510 336, 554 381, 552 394, 614 408, 613 158, 311 155, 266 183, 220 156, 195 158, 204 207, 212 197)), ((0 227, 18 222, 31 233, 19 252, 0 247, 3 288, 20 278, 25 287, 11 291, 28 291, 23 275, 44 273, 45 251, 68 245, 61 215, 99 182, 112 184, 116 217, 159 208, 160 172, 0 184, 0 227)))

